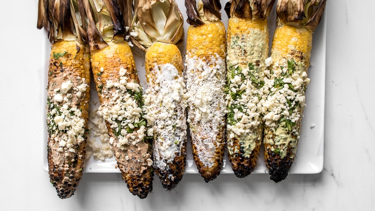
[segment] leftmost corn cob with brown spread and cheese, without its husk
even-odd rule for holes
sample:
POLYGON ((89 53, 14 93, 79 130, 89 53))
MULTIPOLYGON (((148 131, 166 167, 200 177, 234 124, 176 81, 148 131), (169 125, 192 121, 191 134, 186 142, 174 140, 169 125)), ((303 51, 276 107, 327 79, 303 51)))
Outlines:
POLYGON ((88 47, 77 41, 58 41, 51 48, 46 106, 48 173, 62 199, 74 194, 85 163, 88 57, 88 47))

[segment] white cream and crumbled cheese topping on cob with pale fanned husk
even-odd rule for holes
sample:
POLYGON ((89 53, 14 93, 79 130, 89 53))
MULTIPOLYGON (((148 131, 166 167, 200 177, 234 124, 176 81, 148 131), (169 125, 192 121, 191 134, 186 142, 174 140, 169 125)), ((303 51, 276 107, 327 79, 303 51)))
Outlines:
POLYGON ((143 111, 148 124, 152 125, 152 130, 147 133, 154 136, 154 165, 163 171, 175 156, 182 153, 186 141, 185 84, 171 64, 155 66, 152 74, 154 77, 150 77, 144 95, 143 111))

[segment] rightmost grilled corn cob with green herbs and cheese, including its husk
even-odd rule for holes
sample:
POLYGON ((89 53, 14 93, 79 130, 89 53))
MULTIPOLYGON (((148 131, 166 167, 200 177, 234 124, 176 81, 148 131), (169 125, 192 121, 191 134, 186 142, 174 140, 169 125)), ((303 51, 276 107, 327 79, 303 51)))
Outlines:
POLYGON ((279 0, 277 28, 267 59, 269 95, 265 102, 264 157, 270 179, 288 176, 300 139, 300 124, 309 83, 307 69, 312 33, 318 26, 326 0, 279 0), (313 5, 317 4, 313 10, 313 5))

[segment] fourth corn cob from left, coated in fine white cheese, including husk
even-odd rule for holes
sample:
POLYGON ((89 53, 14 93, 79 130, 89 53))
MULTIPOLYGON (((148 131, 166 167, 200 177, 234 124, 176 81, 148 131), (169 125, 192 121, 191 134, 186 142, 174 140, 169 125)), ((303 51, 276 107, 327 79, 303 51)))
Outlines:
POLYGON ((224 156, 225 26, 220 1, 199 1, 198 9, 195 0, 185 2, 190 24, 185 60, 190 139, 195 165, 208 182, 220 175, 224 156))

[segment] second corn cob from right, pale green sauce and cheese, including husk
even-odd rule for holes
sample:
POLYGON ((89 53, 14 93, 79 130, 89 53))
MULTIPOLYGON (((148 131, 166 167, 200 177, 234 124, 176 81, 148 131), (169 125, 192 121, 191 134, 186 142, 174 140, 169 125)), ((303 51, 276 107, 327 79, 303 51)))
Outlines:
POLYGON ((266 17, 274 0, 231 0, 227 30, 227 149, 237 177, 253 172, 263 138, 264 61, 268 57, 266 17))

